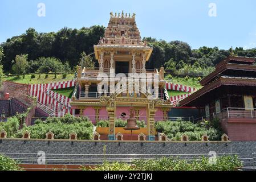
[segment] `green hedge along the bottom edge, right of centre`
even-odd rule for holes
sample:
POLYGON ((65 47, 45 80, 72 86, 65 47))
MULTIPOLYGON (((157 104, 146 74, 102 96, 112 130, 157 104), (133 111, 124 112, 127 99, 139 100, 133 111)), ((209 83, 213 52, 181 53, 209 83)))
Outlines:
POLYGON ((238 156, 217 157, 214 163, 209 158, 193 159, 189 162, 179 158, 160 158, 135 160, 131 164, 109 163, 105 161, 95 168, 82 168, 89 171, 237 171, 242 167, 238 156))

